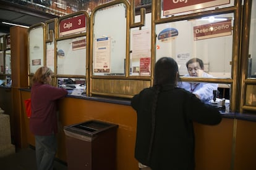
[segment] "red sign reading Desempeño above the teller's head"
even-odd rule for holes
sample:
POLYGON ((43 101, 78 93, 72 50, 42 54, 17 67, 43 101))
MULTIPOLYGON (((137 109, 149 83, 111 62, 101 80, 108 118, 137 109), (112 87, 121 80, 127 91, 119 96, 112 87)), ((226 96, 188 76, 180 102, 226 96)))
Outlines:
POLYGON ((194 40, 215 38, 232 34, 231 20, 194 26, 194 40))

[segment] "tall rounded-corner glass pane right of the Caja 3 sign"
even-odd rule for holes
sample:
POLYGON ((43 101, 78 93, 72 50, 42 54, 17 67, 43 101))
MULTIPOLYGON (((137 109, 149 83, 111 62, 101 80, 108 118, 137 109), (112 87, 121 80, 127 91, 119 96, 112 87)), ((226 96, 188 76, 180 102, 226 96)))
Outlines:
POLYGON ((125 75, 126 5, 96 10, 92 19, 93 75, 125 75))

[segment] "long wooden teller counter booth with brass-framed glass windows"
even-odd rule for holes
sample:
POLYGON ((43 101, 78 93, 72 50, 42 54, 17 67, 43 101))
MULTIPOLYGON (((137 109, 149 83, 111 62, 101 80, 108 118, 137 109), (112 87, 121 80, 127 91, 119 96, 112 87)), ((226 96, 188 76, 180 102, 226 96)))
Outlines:
POLYGON ((153 84, 155 62, 169 56, 179 65, 181 81, 218 84, 218 99, 228 102, 217 126, 194 123, 195 169, 256 169, 256 51, 250 32, 256 26, 251 22, 255 1, 196 2, 202 9, 166 3, 171 1, 152 0, 146 12, 133 0, 116 0, 90 14, 82 10, 28 29, 12 27, 11 99, 2 99, 0 92, 1 100, 12 100, 16 147, 35 146, 24 100, 30 98, 36 69, 48 66, 52 85, 69 91, 58 101, 56 158, 67 163, 64 126, 95 119, 118 125, 116 169, 139 169, 137 115, 130 98, 153 84), (194 57, 213 78, 184 76, 187 60, 194 57))

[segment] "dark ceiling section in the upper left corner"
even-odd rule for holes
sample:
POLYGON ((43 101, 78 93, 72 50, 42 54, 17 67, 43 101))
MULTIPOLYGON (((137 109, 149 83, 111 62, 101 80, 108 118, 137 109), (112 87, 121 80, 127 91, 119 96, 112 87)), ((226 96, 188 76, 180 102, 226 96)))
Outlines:
POLYGON ((56 15, 31 9, 11 1, 0 0, 0 33, 9 33, 11 28, 11 25, 6 25, 2 22, 31 26, 56 17, 56 15))

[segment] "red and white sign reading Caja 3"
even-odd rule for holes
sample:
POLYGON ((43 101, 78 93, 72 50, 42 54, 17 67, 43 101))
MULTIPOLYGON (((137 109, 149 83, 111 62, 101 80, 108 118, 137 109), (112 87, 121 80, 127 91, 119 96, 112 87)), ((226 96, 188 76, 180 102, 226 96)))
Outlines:
POLYGON ((85 31, 86 18, 85 15, 78 15, 73 18, 61 20, 59 22, 59 35, 73 34, 85 31))

